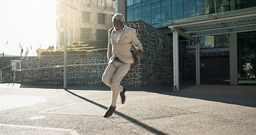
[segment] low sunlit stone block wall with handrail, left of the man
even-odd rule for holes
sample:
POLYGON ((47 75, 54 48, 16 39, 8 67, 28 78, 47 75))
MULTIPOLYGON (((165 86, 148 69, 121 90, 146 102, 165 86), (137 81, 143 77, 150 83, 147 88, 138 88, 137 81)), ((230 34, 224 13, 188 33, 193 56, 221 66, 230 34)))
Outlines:
MULTIPOLYGON (((107 66, 107 58, 68 57, 67 79, 69 85, 102 85, 101 75, 107 66), (75 80, 75 81, 74 81, 75 80), (91 83, 88 80, 98 80, 91 83)), ((63 59, 23 60, 21 69, 16 71, 16 81, 34 82, 35 84, 63 84, 63 59)))

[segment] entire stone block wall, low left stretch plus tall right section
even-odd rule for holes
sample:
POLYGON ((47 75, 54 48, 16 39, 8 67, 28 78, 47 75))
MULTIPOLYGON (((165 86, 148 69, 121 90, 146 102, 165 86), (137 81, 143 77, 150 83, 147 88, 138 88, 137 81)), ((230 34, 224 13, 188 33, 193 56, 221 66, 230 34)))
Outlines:
MULTIPOLYGON (((172 37, 143 21, 127 22, 126 25, 136 29, 144 55, 139 59, 139 64, 125 75, 121 84, 146 87, 172 82, 172 37)), ((23 60, 21 63, 23 71, 15 72, 16 81, 63 84, 63 58, 23 60)), ((105 85, 101 76, 107 66, 106 53, 99 56, 68 57, 68 65, 73 65, 68 66, 68 85, 105 85)))

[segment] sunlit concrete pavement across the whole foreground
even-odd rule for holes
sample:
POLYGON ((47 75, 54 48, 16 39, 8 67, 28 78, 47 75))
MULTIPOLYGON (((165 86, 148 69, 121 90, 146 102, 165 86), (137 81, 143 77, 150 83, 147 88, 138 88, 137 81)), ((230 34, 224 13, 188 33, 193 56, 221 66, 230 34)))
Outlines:
POLYGON ((0 134, 256 134, 256 86, 127 88, 0 84, 0 134))

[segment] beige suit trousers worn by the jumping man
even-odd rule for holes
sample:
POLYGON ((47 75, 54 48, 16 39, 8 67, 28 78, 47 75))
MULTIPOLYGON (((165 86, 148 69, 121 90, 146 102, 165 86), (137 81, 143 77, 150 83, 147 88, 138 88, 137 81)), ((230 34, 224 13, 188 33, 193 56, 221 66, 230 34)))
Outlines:
POLYGON ((102 81, 109 86, 112 91, 111 106, 116 106, 118 93, 123 91, 120 82, 128 73, 130 67, 131 64, 125 64, 120 60, 114 60, 111 64, 107 65, 107 68, 102 75, 102 81))

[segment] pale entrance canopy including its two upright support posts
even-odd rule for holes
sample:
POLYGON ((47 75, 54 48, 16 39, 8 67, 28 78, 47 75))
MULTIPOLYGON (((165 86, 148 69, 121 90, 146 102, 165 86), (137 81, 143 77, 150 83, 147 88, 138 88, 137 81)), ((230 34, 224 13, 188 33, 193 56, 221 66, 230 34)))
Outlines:
POLYGON ((178 35, 196 43, 196 84, 200 85, 199 41, 196 37, 256 31, 256 7, 159 23, 173 32, 173 91, 179 91, 178 35))

